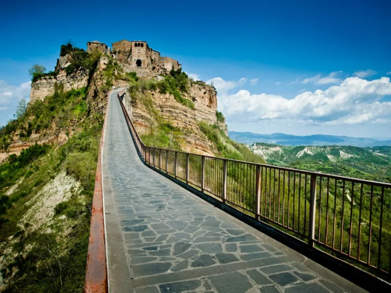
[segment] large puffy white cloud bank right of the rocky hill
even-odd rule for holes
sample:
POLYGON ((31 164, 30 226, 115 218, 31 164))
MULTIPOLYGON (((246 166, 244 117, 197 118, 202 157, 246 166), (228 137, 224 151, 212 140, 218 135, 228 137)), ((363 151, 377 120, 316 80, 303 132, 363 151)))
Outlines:
POLYGON ((293 99, 240 90, 219 95, 218 105, 227 121, 235 123, 284 119, 318 125, 389 123, 391 102, 381 101, 387 95, 391 95, 389 77, 372 81, 348 77, 325 91, 303 92, 293 99))

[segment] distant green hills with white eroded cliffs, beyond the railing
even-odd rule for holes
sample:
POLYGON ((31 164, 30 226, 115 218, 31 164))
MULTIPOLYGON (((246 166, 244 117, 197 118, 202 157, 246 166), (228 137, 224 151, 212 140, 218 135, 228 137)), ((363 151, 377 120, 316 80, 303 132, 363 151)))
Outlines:
POLYGON ((254 143, 249 150, 262 156, 269 164, 391 182, 391 147, 288 147, 254 143))

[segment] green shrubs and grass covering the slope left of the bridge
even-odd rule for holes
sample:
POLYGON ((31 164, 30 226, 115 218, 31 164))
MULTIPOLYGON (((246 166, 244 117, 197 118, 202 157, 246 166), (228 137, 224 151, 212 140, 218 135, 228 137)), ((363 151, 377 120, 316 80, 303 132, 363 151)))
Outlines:
POLYGON ((56 84, 52 96, 36 101, 0 129, 5 149, 16 131, 24 139, 33 132, 44 134, 52 125, 60 129, 77 123, 60 148, 35 144, 0 165, 0 254, 15 256, 1 271, 9 285, 5 292, 83 291, 102 118, 90 112, 85 88, 64 93, 56 84), (28 222, 20 227, 31 208, 26 203, 39 200, 35 196, 63 171, 79 188, 54 207, 47 229, 32 229, 36 223, 28 222), (3 194, 17 182, 9 196, 3 194))

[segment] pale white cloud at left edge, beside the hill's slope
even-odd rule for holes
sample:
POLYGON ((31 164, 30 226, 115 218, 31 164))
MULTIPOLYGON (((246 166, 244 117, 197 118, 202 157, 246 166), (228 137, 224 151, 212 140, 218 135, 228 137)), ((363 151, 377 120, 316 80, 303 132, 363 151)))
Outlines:
POLYGON ((21 98, 30 99, 31 81, 23 82, 19 86, 8 84, 0 80, 0 125, 7 124, 16 111, 21 98))

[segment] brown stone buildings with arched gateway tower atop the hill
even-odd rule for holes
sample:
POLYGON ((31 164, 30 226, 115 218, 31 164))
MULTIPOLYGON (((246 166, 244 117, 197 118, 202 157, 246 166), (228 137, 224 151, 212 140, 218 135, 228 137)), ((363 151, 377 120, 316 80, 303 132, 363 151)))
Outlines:
POLYGON ((121 40, 111 45, 117 59, 133 67, 148 68, 157 73, 181 68, 178 61, 170 57, 161 57, 160 53, 150 48, 145 41, 121 40))

